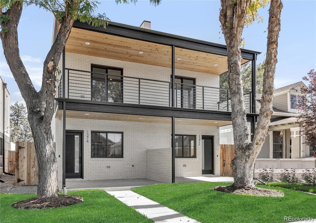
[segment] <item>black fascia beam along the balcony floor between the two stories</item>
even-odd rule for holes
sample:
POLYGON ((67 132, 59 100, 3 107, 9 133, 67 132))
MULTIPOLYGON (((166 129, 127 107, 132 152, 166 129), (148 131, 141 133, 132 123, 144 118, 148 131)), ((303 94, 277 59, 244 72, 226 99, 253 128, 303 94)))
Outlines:
MULTIPOLYGON (((69 99, 58 99, 58 109, 63 109, 63 101, 66 101, 66 110, 71 111, 101 112, 127 115, 146 115, 156 117, 179 117, 222 121, 232 120, 231 112, 205 111, 161 106, 140 106, 133 104, 117 104, 111 102, 107 102, 105 104, 98 104, 93 103, 93 101, 74 101, 69 99)), ((251 122, 253 120, 253 116, 257 116, 257 114, 248 114, 247 121, 251 122)))

